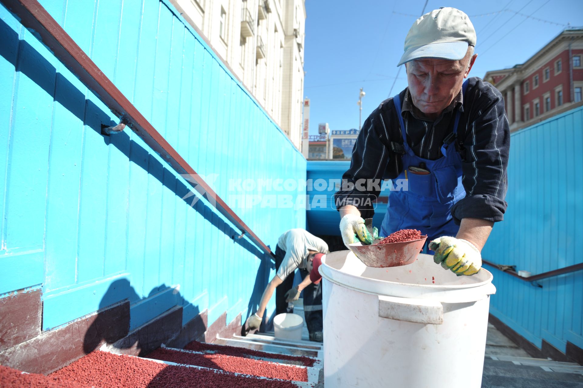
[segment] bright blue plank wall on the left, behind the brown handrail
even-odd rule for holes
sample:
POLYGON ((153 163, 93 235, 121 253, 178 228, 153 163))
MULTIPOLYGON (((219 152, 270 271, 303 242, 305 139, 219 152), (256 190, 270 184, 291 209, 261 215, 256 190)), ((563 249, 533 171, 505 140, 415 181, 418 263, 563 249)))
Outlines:
MULTIPOLYGON (((272 250, 305 228, 237 181, 305 179, 305 159, 171 5, 41 4, 272 250)), ((1 5, 0 36, 0 294, 42 287, 44 329, 123 299, 132 328, 175 305, 245 319, 271 261, 129 129, 101 135, 117 118, 1 5)))

